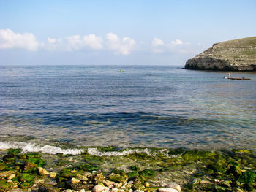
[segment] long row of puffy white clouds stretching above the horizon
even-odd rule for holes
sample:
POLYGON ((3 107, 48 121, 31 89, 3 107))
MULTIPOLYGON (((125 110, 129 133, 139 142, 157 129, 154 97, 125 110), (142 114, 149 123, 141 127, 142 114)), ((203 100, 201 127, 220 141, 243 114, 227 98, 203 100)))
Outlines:
MULTIPOLYGON (((184 52, 184 47, 189 43, 184 43, 181 39, 164 42, 162 39, 154 37, 148 51, 153 53, 184 52)), ((143 47, 143 45, 142 45, 143 47)), ((75 50, 105 50, 116 55, 129 55, 134 51, 143 48, 129 37, 118 37, 117 34, 108 33, 105 37, 95 34, 84 36, 72 35, 63 38, 48 37, 45 42, 37 41, 34 34, 15 33, 10 29, 0 29, 0 49, 24 49, 29 51, 48 50, 48 51, 75 51, 75 50)), ((144 49, 145 50, 145 49, 144 49)))

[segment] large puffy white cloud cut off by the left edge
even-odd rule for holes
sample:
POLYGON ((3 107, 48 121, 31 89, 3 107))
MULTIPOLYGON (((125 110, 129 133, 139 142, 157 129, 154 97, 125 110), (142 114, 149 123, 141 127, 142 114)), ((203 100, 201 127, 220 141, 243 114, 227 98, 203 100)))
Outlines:
POLYGON ((42 46, 42 43, 37 42, 34 34, 16 34, 10 29, 0 29, 0 49, 37 50, 40 46, 42 46))

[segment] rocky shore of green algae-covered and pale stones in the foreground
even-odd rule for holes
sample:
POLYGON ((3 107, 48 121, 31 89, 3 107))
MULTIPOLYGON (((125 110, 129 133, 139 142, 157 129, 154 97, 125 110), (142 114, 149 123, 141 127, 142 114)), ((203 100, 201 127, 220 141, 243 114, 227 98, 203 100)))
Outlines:
POLYGON ((0 150, 0 191, 255 191, 250 150, 94 147, 79 155, 0 150), (128 153, 128 152, 132 153, 128 153))

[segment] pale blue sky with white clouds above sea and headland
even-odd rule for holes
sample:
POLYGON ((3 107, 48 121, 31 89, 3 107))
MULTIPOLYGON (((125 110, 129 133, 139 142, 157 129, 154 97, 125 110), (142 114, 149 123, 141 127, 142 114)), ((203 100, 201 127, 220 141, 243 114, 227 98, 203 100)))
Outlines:
POLYGON ((0 65, 176 65, 256 36, 255 0, 0 0, 0 65))

